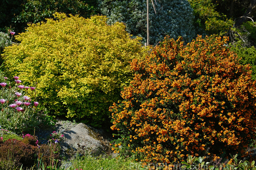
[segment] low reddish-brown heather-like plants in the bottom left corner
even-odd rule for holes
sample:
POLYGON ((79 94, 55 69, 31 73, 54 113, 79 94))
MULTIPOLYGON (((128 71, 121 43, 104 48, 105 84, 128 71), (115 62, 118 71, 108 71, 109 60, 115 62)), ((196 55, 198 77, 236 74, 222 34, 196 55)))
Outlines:
POLYGON ((25 134, 23 138, 3 140, 0 135, 0 169, 57 169, 60 165, 60 142, 63 135, 55 131, 48 143, 41 144, 37 136, 25 134))

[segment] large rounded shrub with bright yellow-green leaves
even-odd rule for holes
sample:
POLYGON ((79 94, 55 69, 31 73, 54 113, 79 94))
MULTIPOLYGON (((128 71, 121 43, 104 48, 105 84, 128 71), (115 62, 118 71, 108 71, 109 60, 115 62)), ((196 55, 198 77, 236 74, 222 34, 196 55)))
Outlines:
POLYGON ((16 39, 21 44, 2 56, 9 76, 36 85, 37 97, 52 113, 94 126, 109 117, 108 107, 129 82, 129 63, 146 52, 124 24, 110 26, 105 16, 55 13, 55 20, 30 24, 16 39))

